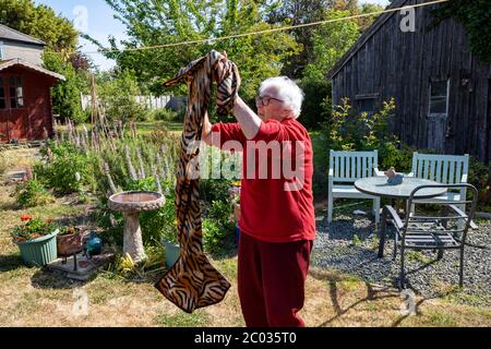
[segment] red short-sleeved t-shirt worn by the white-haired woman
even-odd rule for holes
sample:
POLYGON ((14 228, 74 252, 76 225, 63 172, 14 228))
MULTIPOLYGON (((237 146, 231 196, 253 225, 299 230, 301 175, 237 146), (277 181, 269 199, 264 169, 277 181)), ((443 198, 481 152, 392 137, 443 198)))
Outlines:
POLYGON ((240 231, 266 242, 314 240, 312 140, 303 125, 268 120, 250 141, 239 123, 220 122, 212 132, 224 151, 243 149, 240 231), (228 141, 236 142, 224 147, 228 141))

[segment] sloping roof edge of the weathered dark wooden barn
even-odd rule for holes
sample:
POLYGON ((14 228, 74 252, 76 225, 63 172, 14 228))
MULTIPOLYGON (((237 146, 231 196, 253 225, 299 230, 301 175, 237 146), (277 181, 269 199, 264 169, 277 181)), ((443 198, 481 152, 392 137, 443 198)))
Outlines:
MULTIPOLYGON (((394 0, 386 10, 402 8, 408 0, 394 0)), ((327 79, 333 79, 346 65, 346 63, 363 47, 364 44, 387 22, 397 11, 381 14, 373 24, 361 34, 354 46, 337 61, 337 63, 327 73, 327 79)))

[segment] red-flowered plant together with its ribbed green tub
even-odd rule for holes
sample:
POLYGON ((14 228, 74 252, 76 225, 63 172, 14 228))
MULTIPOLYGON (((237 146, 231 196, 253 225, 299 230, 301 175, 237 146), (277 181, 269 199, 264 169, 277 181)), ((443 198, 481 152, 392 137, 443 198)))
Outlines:
POLYGON ((55 261, 59 230, 52 219, 41 220, 25 215, 21 220, 23 224, 15 227, 11 236, 24 263, 28 266, 44 266, 55 261))

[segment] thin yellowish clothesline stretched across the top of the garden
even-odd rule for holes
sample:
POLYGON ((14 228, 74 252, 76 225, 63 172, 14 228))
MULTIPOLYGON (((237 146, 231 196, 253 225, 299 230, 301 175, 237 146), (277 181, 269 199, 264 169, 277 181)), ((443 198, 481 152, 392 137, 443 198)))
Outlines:
POLYGON ((142 50, 151 50, 151 49, 169 48, 169 47, 183 46, 183 45, 216 43, 216 41, 233 39, 233 38, 251 36, 251 35, 263 35, 263 34, 284 32, 284 31, 291 31, 291 29, 309 27, 309 26, 323 25, 323 24, 340 22, 340 21, 362 19, 362 17, 380 15, 380 14, 384 14, 384 13, 397 12, 397 11, 407 10, 407 9, 416 9, 416 8, 428 7, 428 5, 431 5, 431 4, 436 4, 436 3, 447 2, 447 1, 450 1, 450 0, 434 0, 434 1, 423 2, 423 3, 412 4, 412 5, 406 5, 406 7, 402 7, 402 8, 396 8, 396 9, 388 9, 388 10, 383 10, 383 11, 374 11, 374 12, 370 12, 370 13, 356 14, 356 15, 350 15, 350 16, 340 17, 340 19, 332 19, 332 20, 325 20, 325 21, 319 21, 319 22, 312 22, 312 23, 306 23, 306 24, 284 26, 284 27, 279 27, 279 28, 271 28, 271 29, 265 29, 265 31, 258 31, 258 32, 242 33, 242 34, 229 35, 229 36, 221 36, 221 37, 216 37, 216 38, 189 40, 189 41, 172 43, 172 44, 156 45, 156 46, 144 46, 144 47, 137 47, 137 48, 88 51, 88 52, 82 52, 82 53, 83 55, 101 55, 101 53, 113 53, 113 52, 129 52, 129 51, 142 51, 142 50))

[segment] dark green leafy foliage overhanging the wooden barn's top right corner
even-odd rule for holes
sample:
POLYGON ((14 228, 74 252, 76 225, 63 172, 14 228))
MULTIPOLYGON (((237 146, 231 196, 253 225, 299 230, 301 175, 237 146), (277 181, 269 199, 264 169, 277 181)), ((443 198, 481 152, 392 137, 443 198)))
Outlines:
POLYGON ((483 63, 491 63, 491 0, 450 0, 433 10, 435 24, 453 17, 466 28, 470 50, 483 63))

